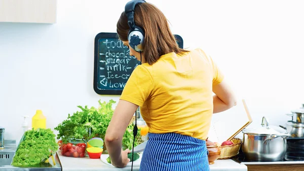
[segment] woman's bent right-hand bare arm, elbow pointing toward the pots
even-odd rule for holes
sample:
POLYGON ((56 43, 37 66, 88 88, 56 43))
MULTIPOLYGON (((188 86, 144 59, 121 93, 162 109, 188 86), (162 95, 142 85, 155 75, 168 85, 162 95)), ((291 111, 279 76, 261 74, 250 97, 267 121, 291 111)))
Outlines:
POLYGON ((212 86, 213 96, 213 113, 222 112, 237 105, 237 100, 232 89, 223 80, 221 83, 212 86))

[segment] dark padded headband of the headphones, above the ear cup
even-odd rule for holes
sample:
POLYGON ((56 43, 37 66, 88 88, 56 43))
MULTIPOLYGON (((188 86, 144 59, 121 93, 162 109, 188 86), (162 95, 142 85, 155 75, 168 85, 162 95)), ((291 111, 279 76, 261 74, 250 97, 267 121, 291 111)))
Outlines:
POLYGON ((135 22, 134 22, 134 9, 137 4, 145 3, 144 0, 132 0, 128 2, 125 6, 125 13, 127 14, 128 18, 128 25, 131 29, 135 28, 135 22))

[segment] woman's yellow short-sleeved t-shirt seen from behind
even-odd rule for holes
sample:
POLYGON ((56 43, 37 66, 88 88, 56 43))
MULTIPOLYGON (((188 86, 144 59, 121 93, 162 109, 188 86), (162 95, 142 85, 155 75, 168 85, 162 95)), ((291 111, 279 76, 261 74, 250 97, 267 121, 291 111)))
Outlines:
POLYGON ((149 132, 175 132, 206 140, 213 113, 212 85, 223 80, 201 49, 162 55, 132 72, 120 99, 140 106, 149 132))

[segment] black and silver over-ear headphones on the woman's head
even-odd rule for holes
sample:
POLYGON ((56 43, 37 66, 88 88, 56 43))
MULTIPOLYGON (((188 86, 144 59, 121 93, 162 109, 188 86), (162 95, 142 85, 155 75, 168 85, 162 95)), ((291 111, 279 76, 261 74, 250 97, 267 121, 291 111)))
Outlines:
POLYGON ((134 9, 137 4, 145 3, 144 0, 132 0, 128 2, 125 6, 125 13, 128 18, 128 25, 130 27, 128 33, 129 45, 136 52, 143 51, 143 41, 144 41, 144 31, 139 26, 135 25, 134 22, 134 9))

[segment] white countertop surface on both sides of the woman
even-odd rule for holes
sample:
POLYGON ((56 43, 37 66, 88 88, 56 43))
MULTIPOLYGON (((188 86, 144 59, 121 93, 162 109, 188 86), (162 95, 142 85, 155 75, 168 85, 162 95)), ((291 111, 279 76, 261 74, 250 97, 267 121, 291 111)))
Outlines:
MULTIPOLYGON (((118 168, 103 163, 100 159, 90 159, 88 156, 83 158, 65 157, 58 151, 58 156, 61 162, 62 171, 115 171, 115 170, 131 170, 131 167, 118 168)), ((134 171, 139 170, 139 167, 133 167, 134 171)), ((231 159, 215 160, 214 164, 210 165, 212 171, 247 171, 247 166, 237 163, 231 159)))

